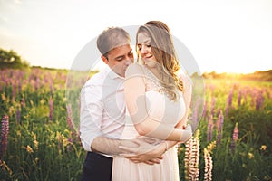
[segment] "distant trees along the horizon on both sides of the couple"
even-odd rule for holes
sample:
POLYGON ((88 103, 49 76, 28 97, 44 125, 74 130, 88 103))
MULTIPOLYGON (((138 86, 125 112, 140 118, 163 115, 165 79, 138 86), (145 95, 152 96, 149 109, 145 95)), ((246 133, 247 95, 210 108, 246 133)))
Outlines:
MULTIPOLYGON (((0 48, 0 69, 24 69, 30 65, 28 62, 22 60, 17 52, 10 50, 6 51, 0 48)), ((42 68, 42 67, 35 67, 42 68)), ((50 68, 45 68, 50 69, 50 68)), ((216 71, 204 72, 202 76, 206 79, 242 79, 254 81, 272 81, 272 70, 269 71, 255 71, 248 74, 235 74, 235 73, 217 73, 216 71)))

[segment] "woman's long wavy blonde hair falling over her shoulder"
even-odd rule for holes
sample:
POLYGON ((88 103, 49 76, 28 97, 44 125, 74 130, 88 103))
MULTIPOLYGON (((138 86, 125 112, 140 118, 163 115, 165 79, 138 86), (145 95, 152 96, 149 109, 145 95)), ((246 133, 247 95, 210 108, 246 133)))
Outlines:
MULTIPOLYGON (((178 90, 183 91, 183 82, 178 76, 180 65, 175 52, 169 27, 160 21, 150 21, 140 26, 136 34, 136 50, 138 50, 138 34, 146 33, 151 38, 151 51, 161 66, 160 84, 169 95, 170 100, 178 100, 178 90)), ((138 52, 138 51, 137 51, 138 52)), ((139 53, 137 53, 139 61, 139 53)))

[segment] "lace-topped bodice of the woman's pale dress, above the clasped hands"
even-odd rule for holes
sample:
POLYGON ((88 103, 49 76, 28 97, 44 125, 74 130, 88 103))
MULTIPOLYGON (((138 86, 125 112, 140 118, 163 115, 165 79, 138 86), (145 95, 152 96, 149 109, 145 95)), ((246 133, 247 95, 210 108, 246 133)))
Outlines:
MULTIPOLYGON (((146 66, 143 65, 142 69, 144 72, 146 108, 149 117, 175 127, 185 114, 182 93, 179 94, 179 100, 170 100, 167 92, 163 91, 164 88, 160 85, 159 79, 146 66)), ((135 138, 136 136, 139 136, 138 132, 134 129, 132 120, 128 116, 122 138, 135 138)), ((155 142, 157 141, 160 140, 156 139, 155 142)))

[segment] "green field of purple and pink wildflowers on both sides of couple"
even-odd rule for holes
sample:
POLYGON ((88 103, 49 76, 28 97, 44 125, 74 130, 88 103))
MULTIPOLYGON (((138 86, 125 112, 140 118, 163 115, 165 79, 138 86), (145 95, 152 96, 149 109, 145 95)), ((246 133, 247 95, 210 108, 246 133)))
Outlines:
MULTIPOLYGON (((66 106, 67 71, 0 71, 0 180, 79 180, 85 151, 66 106)), ((180 180, 272 180, 272 82, 206 79, 180 180)))

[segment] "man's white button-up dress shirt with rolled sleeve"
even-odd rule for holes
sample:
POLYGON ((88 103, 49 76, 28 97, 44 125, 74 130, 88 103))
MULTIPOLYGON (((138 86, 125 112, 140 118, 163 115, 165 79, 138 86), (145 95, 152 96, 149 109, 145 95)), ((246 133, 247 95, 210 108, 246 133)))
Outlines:
POLYGON ((92 151, 98 136, 120 138, 125 124, 124 78, 108 66, 87 81, 81 91, 80 138, 83 148, 92 151))

